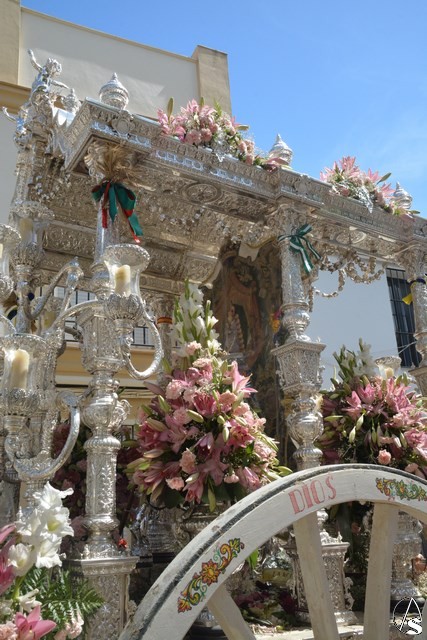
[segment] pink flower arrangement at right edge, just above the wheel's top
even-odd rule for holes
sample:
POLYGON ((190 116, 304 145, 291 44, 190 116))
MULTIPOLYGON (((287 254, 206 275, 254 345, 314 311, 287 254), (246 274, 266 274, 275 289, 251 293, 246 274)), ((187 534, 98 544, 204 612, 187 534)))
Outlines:
POLYGON ((427 407, 405 375, 381 377, 367 346, 334 354, 340 381, 322 392, 325 461, 382 464, 427 478, 427 407), (369 361, 369 362, 368 362, 369 361), (365 370, 365 372, 364 372, 365 370))

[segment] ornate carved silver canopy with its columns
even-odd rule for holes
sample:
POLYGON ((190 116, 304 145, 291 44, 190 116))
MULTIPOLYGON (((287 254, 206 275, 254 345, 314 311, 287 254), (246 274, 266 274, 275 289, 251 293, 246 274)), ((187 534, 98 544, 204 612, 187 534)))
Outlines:
MULTIPOLYGON (((34 58, 32 62, 38 75, 30 100, 18 116, 8 116, 15 121, 18 143, 18 178, 11 226, 17 226, 19 218, 38 220, 43 210, 53 212, 55 221, 46 220, 49 226, 43 243, 42 238, 34 243, 23 242, 16 251, 10 252, 14 256, 13 269, 10 275, 0 276, 0 289, 5 296, 10 288, 7 277, 17 283, 18 332, 24 334, 30 334, 33 319, 41 317, 51 304, 53 282, 65 282, 68 292, 73 291, 77 276, 81 275, 76 263, 61 271, 57 280, 52 280, 50 297, 32 304, 28 302, 28 294, 37 280, 41 278, 45 284, 45 278, 52 275, 50 272, 56 276, 74 255, 83 258, 81 266, 86 277, 90 273, 89 260, 94 257, 92 278, 84 287, 94 292, 97 299, 73 309, 65 304, 50 332, 41 331, 48 348, 46 355, 39 358, 45 375, 37 389, 37 407, 34 405, 37 410, 29 424, 29 406, 24 407, 25 413, 20 415, 22 408, 18 410, 18 401, 8 400, 8 393, 13 390, 6 390, 5 404, 13 407, 15 413, 8 414, 4 429, 7 427, 9 433, 8 448, 19 452, 20 461, 24 460, 25 464, 27 460, 34 459, 37 464, 41 461, 38 456, 48 450, 48 432, 55 424, 51 408, 55 404, 52 399, 56 397, 53 381, 56 358, 62 348, 63 323, 67 318, 76 317, 83 336, 83 363, 92 375, 88 393, 79 403, 92 429, 88 444, 91 497, 86 514, 90 537, 87 557, 81 562, 86 562, 89 572, 96 564, 96 575, 108 576, 105 580, 108 613, 105 618, 101 615, 101 623, 94 625, 91 634, 94 638, 97 633, 102 634, 98 637, 104 637, 105 633, 116 637, 117 625, 123 623, 118 611, 123 611, 125 605, 123 592, 116 592, 110 584, 115 579, 110 568, 116 571, 122 560, 110 536, 115 523, 112 478, 118 442, 114 434, 126 414, 126 407, 118 401, 115 375, 124 363, 135 377, 154 373, 161 352, 159 332, 167 341, 167 323, 159 324, 157 332, 147 303, 138 299, 137 292, 129 296, 116 292, 108 306, 112 286, 102 254, 111 244, 129 241, 129 231, 126 221, 118 216, 116 228, 108 228, 102 235, 101 210, 99 208, 97 218, 89 188, 90 179, 97 177, 99 171, 90 162, 85 166, 85 157, 99 161, 100 148, 106 144, 121 145, 126 151, 132 184, 138 194, 136 211, 151 255, 141 285, 151 297, 164 296, 161 304, 166 305, 179 293, 188 275, 194 281, 209 281, 224 241, 245 241, 259 246, 278 235, 284 236, 279 248, 283 323, 289 338, 275 355, 282 386, 292 399, 289 428, 298 445, 298 465, 303 468, 319 463, 319 451, 313 440, 322 428, 316 394, 323 345, 311 342, 306 335, 316 270, 310 277, 302 273, 299 257, 289 248, 288 236, 305 223, 312 225, 313 241, 323 256, 317 267, 336 272, 340 289, 346 277, 363 282, 379 277, 384 261, 406 265, 411 279, 425 277, 426 223, 393 217, 380 209, 369 212, 359 202, 334 196, 329 185, 286 168, 269 173, 223 157, 218 149, 214 153, 183 145, 162 135, 157 124, 124 111, 127 92, 114 79, 107 83, 101 96, 108 104, 89 100, 79 107, 75 96, 70 94, 62 97, 68 112, 59 114, 54 101, 65 88, 56 80, 60 65, 48 60, 42 67, 34 58), (72 175, 69 177, 67 172, 72 175), (46 249, 43 261, 40 260, 42 246, 46 249), (156 340, 154 362, 146 372, 136 371, 129 355, 130 328, 139 319, 149 323, 156 340), (27 437, 35 425, 44 428, 40 442, 27 437), (110 620, 114 620, 111 631, 110 620), (107 632, 102 624, 106 625, 107 632)), ((105 177, 105 173, 101 172, 101 177, 105 177)), ((400 195, 402 202, 404 198, 407 202, 407 196, 400 195)), ((419 282, 412 289, 418 348, 423 355, 423 366, 415 375, 420 386, 427 389, 426 287, 419 282)), ((147 294, 147 299, 150 296, 147 294)), ((159 315, 168 317, 170 312, 159 314, 157 311, 158 318, 159 315)), ((10 323, 4 319, 2 323, 13 334, 10 323)), ((167 344, 167 349, 169 347, 167 344)), ((27 390, 25 393, 29 397, 27 390)), ((27 396, 23 397, 24 405, 29 402, 27 396)), ((40 468, 43 469, 37 467, 35 473, 40 468)), ((13 473, 10 467, 7 473, 9 476, 13 473)), ((38 481, 34 475, 33 486, 38 481)), ((31 481, 27 483, 27 493, 30 488, 31 481)))

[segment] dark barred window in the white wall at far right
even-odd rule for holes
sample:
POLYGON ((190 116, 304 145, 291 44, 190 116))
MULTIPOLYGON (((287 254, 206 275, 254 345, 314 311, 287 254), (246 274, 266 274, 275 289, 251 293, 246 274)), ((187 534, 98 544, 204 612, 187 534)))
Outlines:
POLYGON ((410 293, 405 272, 402 269, 387 269, 387 284, 402 367, 417 367, 421 356, 415 348, 414 308, 412 304, 403 302, 403 298, 410 293))

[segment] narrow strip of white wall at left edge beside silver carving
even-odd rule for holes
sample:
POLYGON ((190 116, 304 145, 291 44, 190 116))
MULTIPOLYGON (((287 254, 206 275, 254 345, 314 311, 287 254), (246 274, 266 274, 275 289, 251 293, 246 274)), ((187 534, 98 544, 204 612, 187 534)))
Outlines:
POLYGON ((0 115, 0 223, 7 223, 15 189, 16 147, 13 122, 0 115))

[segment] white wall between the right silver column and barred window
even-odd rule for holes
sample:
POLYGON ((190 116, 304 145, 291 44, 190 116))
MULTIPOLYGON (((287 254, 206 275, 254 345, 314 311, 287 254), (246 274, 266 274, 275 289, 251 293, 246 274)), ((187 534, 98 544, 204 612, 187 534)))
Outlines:
MULTIPOLYGON (((316 287, 330 292, 336 288, 336 278, 321 273, 316 287)), ((374 358, 397 355, 396 337, 386 277, 370 285, 348 280, 338 297, 325 299, 316 296, 311 323, 307 330, 312 340, 326 344, 322 353, 323 386, 328 388, 336 362, 334 351, 343 344, 358 349, 359 338, 372 346, 374 358)))

